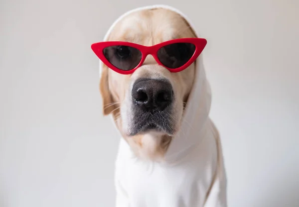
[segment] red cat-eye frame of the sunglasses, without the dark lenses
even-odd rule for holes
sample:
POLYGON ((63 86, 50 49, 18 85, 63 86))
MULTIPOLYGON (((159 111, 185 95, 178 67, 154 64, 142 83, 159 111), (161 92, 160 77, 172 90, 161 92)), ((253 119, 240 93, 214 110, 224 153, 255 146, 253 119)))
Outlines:
POLYGON ((168 40, 165 42, 161 42, 159 44, 153 45, 153 46, 144 46, 144 45, 140 45, 140 44, 136 44, 136 43, 132 43, 132 42, 124 42, 124 41, 107 41, 107 42, 97 42, 97 43, 93 43, 91 45, 91 49, 93 50, 93 52, 98 56, 98 58, 106 65, 108 66, 110 69, 114 70, 117 73, 120 74, 124 74, 124 75, 128 75, 128 74, 132 74, 134 73, 134 71, 136 71, 140 66, 142 66, 142 64, 144 63, 146 57, 148 55, 152 55, 152 57, 155 59, 155 61, 163 66, 164 68, 166 68, 167 70, 169 70, 172 73, 177 73, 180 72, 184 69, 186 69, 188 66, 190 66, 195 60, 196 58, 200 55, 200 53, 202 52, 202 50, 204 49, 204 47, 207 44, 207 40, 204 38, 180 38, 180 39, 173 39, 173 40, 168 40), (194 54, 192 55, 192 57, 181 67, 179 68, 168 68, 165 65, 163 65, 158 56, 157 56, 157 51, 161 48, 164 47, 166 45, 169 44, 173 44, 173 43, 191 43, 193 45, 195 45, 195 51, 194 54), (142 58, 140 63, 133 68, 132 70, 121 70, 117 67, 115 67, 114 65, 112 65, 105 57, 103 50, 106 47, 109 46, 116 46, 116 45, 123 45, 123 46, 130 46, 130 47, 134 47, 136 49, 138 49, 141 53, 142 53, 142 58))

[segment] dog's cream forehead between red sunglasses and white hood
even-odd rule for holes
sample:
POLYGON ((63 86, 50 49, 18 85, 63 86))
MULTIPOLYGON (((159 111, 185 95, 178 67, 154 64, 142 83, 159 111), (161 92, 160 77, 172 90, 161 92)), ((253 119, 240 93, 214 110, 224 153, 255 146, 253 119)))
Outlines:
POLYGON ((182 16, 166 9, 137 11, 126 16, 119 24, 118 31, 122 32, 115 39, 145 46, 184 36, 185 32, 181 30, 188 27, 182 16))

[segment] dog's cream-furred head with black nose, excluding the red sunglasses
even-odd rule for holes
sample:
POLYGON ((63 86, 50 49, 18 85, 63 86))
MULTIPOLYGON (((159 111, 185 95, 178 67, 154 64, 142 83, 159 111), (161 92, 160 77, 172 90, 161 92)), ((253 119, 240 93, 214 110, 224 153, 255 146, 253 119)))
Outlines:
MULTIPOLYGON (((192 37, 196 35, 182 16, 157 8, 130 13, 113 27, 107 41, 152 46, 192 37)), ((114 54, 108 51, 112 59, 114 54)), ((121 55, 128 54, 122 51, 121 55)), ((150 159, 163 156, 171 137, 180 128, 194 74, 195 63, 183 71, 171 73, 157 64, 151 55, 129 75, 119 74, 103 65, 100 80, 103 112, 113 115, 122 136, 138 156, 150 159)))

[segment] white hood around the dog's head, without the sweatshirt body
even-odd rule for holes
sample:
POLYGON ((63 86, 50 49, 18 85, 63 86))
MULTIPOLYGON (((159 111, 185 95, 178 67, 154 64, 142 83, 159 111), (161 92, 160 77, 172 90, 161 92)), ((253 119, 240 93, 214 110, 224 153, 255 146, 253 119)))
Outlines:
MULTIPOLYGON (((199 37, 196 29, 192 22, 184 15, 181 11, 168 5, 150 5, 135 8, 127 11, 121 15, 111 25, 108 32, 104 37, 104 41, 107 41, 109 34, 115 25, 123 19, 125 16, 140 10, 147 10, 153 8, 164 8, 174 11, 181 15, 191 26, 196 36, 199 37)), ((100 76, 102 71, 103 63, 100 61, 100 76)), ((191 89, 191 93, 188 98, 188 102, 183 115, 181 128, 172 138, 170 145, 165 154, 165 162, 172 163, 176 162, 181 157, 184 157, 193 146, 200 144, 201 137, 205 135, 205 124, 208 121, 210 106, 211 106, 211 90, 208 81, 206 80, 206 74, 203 65, 202 54, 198 56, 195 61, 195 79, 191 89)))

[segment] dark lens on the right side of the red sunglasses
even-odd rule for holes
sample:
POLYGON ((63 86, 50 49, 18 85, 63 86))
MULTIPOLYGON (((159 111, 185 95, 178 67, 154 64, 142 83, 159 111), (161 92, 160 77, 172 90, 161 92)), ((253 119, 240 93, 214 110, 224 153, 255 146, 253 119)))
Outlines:
POLYGON ((195 52, 191 43, 173 43, 161 47, 157 56, 161 63, 168 68, 179 68, 186 64, 195 52))

